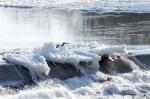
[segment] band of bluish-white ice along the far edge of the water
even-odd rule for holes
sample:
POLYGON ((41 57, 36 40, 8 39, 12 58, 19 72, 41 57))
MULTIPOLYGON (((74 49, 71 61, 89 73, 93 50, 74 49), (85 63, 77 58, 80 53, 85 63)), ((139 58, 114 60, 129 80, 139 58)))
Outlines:
POLYGON ((150 12, 149 0, 0 0, 0 5, 17 8, 54 8, 68 11, 87 10, 97 13, 150 12))

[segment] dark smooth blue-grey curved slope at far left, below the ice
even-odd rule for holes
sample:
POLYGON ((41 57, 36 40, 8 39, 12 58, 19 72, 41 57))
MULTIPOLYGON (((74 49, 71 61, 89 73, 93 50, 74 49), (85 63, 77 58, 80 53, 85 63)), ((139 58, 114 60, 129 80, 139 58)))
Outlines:
POLYGON ((2 86, 19 87, 32 83, 32 78, 26 68, 6 61, 0 62, 0 84, 2 86))

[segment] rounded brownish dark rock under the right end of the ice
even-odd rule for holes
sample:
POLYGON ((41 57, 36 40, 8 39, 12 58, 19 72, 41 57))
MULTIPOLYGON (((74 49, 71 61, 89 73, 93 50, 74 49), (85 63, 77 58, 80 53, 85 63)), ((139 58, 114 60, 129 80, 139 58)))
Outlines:
POLYGON ((132 72, 131 60, 125 56, 118 56, 117 59, 110 59, 110 56, 103 55, 100 64, 100 71, 107 74, 132 72))

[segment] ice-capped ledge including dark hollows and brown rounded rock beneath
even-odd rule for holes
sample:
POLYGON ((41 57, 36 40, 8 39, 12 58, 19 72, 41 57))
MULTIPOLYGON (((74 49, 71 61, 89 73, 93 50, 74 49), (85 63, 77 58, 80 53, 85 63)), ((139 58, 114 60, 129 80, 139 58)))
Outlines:
POLYGON ((108 46, 97 42, 63 43, 58 46, 49 42, 27 52, 4 53, 3 58, 26 68, 32 80, 45 77, 66 79, 94 74, 99 69, 108 73, 132 71, 132 62, 124 57, 127 53, 126 46, 108 46))

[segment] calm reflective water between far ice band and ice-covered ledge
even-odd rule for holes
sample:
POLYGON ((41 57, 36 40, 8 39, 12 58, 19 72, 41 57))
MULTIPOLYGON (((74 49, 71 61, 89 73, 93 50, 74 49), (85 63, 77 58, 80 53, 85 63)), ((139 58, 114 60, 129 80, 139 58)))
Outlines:
POLYGON ((0 22, 1 48, 35 47, 47 41, 150 44, 150 14, 146 13, 100 15, 50 9, 0 8, 0 22))

